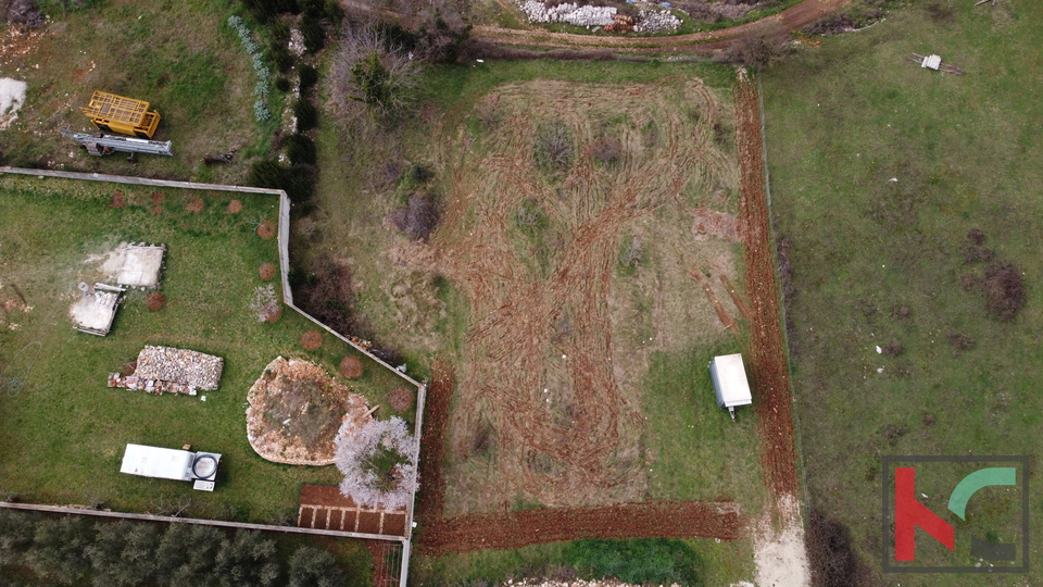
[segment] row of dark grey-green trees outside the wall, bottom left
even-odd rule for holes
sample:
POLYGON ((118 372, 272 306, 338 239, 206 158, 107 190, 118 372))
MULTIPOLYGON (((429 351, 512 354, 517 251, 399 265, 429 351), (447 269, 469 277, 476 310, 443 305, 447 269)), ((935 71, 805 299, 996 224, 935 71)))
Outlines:
POLYGON ((4 567, 21 567, 17 576, 32 571, 48 585, 98 587, 340 587, 348 580, 326 550, 300 547, 288 560, 278 550, 254 530, 0 510, 0 578, 4 567))

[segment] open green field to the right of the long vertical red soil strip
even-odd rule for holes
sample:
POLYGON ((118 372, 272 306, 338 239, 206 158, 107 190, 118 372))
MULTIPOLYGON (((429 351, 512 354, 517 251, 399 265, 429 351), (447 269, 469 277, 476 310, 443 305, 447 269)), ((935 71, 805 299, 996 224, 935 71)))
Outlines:
MULTIPOLYGON (((904 9, 764 80, 776 228, 792 242, 790 344, 810 505, 850 528, 880 580, 882 454, 1027 454, 1039 466, 1043 452, 1043 7, 971 4, 953 4, 952 17, 904 9), (967 75, 922 70, 906 61, 913 52, 967 75), (978 257, 1023 273, 1027 303, 1013 321, 987 312, 976 284, 994 261, 973 260, 971 229, 992 251, 978 257), (902 352, 878 354, 889 342, 902 352)), ((917 491, 944 512, 952 487, 930 483, 917 491)), ((1033 536, 1041 508, 1033 495, 1033 536)), ((951 564, 972 564, 959 540, 951 564)), ((1041 576, 1033 565, 1028 580, 1041 576)), ((901 583, 981 584, 951 574, 901 583)))

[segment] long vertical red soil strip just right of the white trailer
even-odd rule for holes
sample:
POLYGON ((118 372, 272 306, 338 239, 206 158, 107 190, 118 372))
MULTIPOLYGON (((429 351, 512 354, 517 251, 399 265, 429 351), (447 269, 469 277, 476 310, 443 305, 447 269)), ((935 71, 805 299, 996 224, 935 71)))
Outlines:
POLYGON ((736 85, 737 141, 742 178, 739 184, 740 218, 746 242, 746 292, 753 300, 750 371, 754 409, 761 437, 765 484, 775 497, 795 495, 796 445, 786 344, 779 312, 775 255, 764 185, 764 151, 756 85, 736 85))

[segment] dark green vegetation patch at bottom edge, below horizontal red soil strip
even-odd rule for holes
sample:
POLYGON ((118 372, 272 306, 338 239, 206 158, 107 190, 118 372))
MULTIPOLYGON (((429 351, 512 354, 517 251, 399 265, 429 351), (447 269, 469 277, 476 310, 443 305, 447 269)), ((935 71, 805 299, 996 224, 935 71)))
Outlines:
POLYGON ((588 579, 615 577, 637 585, 700 585, 699 555, 680 540, 578 540, 565 549, 565 564, 588 579))

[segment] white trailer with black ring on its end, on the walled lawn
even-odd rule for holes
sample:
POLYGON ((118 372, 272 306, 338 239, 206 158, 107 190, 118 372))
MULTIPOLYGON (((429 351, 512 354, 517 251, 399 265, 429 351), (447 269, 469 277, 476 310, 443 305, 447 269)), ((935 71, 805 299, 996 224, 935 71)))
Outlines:
POLYGON ((190 480, 193 489, 213 491, 221 454, 127 445, 121 473, 156 479, 190 480))

